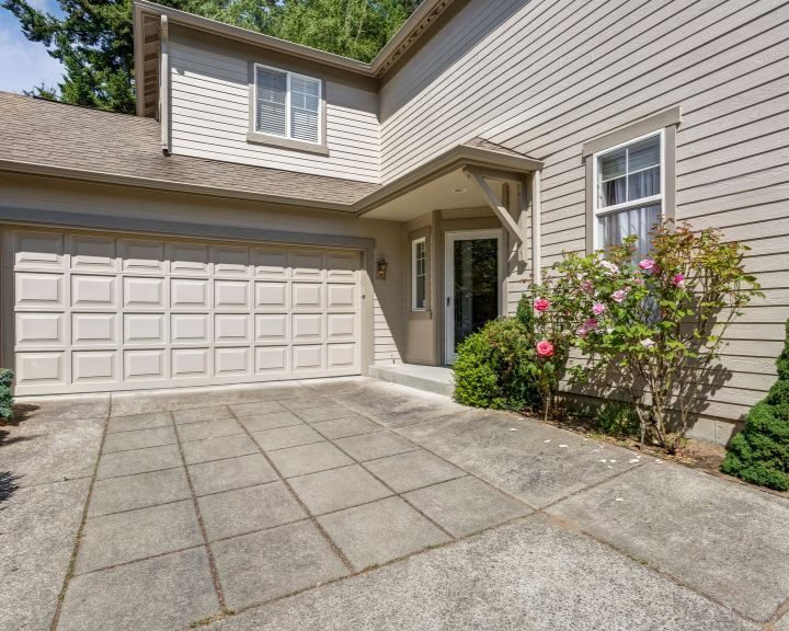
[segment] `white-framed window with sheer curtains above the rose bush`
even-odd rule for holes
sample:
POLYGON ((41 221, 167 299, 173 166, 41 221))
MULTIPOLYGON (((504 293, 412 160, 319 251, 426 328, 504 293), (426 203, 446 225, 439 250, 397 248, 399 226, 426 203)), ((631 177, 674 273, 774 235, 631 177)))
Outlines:
POLYGON ((595 246, 638 237, 637 251, 650 249, 650 230, 664 215, 663 131, 594 154, 595 246))

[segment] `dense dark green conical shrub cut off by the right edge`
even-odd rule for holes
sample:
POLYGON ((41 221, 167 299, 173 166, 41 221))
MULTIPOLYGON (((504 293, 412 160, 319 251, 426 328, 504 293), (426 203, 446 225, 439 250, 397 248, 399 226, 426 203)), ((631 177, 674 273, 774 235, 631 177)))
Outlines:
POLYGON ((789 321, 786 331, 778 381, 747 413, 721 464, 723 473, 777 491, 789 491, 789 321))

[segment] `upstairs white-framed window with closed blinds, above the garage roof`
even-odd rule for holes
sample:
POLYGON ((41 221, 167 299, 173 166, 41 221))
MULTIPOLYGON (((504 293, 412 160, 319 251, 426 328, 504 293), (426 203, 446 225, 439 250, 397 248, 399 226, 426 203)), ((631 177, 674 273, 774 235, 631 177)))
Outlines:
POLYGON ((256 133, 320 144, 320 79, 255 64, 254 82, 256 133))

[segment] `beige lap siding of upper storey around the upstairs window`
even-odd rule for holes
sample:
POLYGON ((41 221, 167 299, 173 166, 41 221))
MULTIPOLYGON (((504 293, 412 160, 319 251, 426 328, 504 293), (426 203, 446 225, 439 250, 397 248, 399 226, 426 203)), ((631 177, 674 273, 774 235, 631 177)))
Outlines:
MULTIPOLYGON (((233 50, 171 41, 172 151, 255 167, 344 177, 379 180, 378 96, 332 78, 324 80, 328 156, 247 141, 249 64, 233 50)), ((317 78, 322 79, 318 73, 317 78)))

